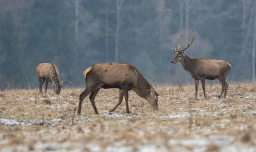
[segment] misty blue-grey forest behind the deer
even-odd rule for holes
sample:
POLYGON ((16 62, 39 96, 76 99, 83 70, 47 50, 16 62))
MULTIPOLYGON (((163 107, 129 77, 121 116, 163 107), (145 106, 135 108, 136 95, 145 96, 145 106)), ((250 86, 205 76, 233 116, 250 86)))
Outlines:
POLYGON ((71 70, 74 87, 102 62, 130 63, 150 83, 193 84, 170 63, 180 34, 196 36, 189 57, 232 65, 228 83, 255 81, 255 0, 1 0, 0 89, 38 87, 41 62, 61 80, 71 70))

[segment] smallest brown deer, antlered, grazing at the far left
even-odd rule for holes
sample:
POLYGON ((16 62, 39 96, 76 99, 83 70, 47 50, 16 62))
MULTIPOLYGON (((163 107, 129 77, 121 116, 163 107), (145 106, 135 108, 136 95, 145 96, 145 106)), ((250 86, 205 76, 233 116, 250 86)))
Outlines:
POLYGON ((45 82, 45 93, 46 93, 48 82, 50 81, 54 86, 53 90, 57 95, 60 94, 60 90, 61 88, 63 88, 65 83, 70 83, 68 82, 68 79, 70 78, 70 76, 73 75, 71 74, 71 71, 70 71, 67 81, 65 82, 61 81, 60 83, 58 68, 55 64, 51 64, 51 63, 41 63, 38 66, 36 66, 36 73, 39 81, 39 93, 43 93, 42 86, 44 85, 44 82, 45 82))

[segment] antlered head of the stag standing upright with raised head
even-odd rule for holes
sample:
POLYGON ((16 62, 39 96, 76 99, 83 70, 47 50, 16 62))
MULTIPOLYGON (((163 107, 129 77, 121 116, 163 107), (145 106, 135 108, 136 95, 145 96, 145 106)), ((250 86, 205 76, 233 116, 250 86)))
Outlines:
POLYGON ((184 56, 185 56, 185 50, 187 50, 187 48, 189 48, 189 46, 192 45, 194 39, 196 38, 196 36, 192 36, 191 43, 189 43, 189 42, 188 42, 188 39, 187 39, 188 46, 182 50, 182 49, 180 48, 182 36, 183 36, 183 34, 180 36, 179 44, 177 44, 177 43, 175 43, 175 42, 173 41, 173 44, 174 44, 174 45, 173 45, 172 50, 173 50, 174 52, 177 52, 177 55, 176 55, 176 57, 172 60, 172 62, 171 62, 172 64, 177 64, 177 63, 182 62, 182 59, 184 59, 184 56))

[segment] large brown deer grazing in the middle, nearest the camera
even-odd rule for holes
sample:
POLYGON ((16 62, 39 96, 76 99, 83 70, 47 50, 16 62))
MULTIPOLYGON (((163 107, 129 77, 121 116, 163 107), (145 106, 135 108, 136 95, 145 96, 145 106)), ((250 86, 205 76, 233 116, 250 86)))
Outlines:
POLYGON ((81 106, 84 98, 90 94, 89 99, 92 103, 95 114, 99 114, 95 106, 95 97, 100 88, 118 88, 119 99, 110 112, 122 103, 125 97, 126 113, 131 113, 128 106, 129 91, 133 90, 139 97, 148 101, 153 110, 158 110, 158 93, 142 76, 135 66, 127 63, 100 63, 88 67, 83 76, 86 83, 85 90, 79 95, 79 105, 77 114, 81 114, 81 106))

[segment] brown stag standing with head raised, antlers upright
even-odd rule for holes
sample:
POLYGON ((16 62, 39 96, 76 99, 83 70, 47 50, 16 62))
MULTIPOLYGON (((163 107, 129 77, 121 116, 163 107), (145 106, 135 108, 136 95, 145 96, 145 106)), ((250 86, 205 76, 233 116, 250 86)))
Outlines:
MULTIPOLYGON (((177 64, 181 62, 182 67, 188 71, 191 76, 195 79, 195 98, 197 98, 197 91, 198 91, 198 83, 199 80, 202 82, 202 88, 204 90, 204 98, 207 99, 205 93, 205 79, 219 79, 222 89, 221 89, 221 96, 225 91, 224 97, 227 97, 228 92, 228 83, 226 82, 226 78, 228 73, 230 72, 231 65, 226 62, 225 60, 207 60, 207 59, 191 59, 187 55, 185 55, 185 50, 191 46, 193 43, 195 36, 192 37, 191 43, 188 42, 188 46, 183 50, 180 49, 181 39, 183 34, 180 36, 179 44, 174 43, 173 51, 177 52, 176 57, 172 60, 172 64, 177 64)), ((187 40, 188 41, 188 40, 187 40)))

